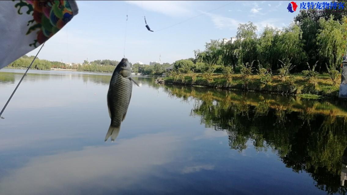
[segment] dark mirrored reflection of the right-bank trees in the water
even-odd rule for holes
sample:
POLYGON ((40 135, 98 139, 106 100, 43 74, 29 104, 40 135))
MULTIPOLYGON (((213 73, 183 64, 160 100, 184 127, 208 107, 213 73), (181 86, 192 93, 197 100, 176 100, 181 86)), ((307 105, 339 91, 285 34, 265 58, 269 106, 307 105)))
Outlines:
POLYGON ((310 173, 319 189, 347 192, 346 102, 173 85, 164 90, 172 98, 194 98, 191 116, 226 132, 230 149, 242 152, 252 141, 257 151, 276 152, 293 171, 310 173))

